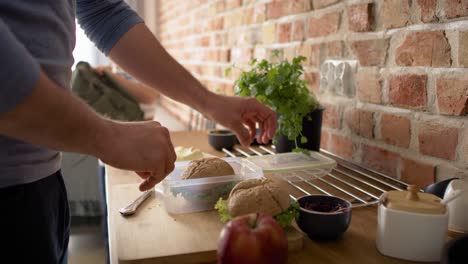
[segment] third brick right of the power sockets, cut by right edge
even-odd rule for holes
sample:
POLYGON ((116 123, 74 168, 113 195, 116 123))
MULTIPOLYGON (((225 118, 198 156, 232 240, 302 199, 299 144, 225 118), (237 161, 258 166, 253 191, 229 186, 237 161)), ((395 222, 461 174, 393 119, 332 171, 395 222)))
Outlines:
POLYGON ((439 112, 464 116, 468 112, 468 78, 440 78, 436 82, 439 112))

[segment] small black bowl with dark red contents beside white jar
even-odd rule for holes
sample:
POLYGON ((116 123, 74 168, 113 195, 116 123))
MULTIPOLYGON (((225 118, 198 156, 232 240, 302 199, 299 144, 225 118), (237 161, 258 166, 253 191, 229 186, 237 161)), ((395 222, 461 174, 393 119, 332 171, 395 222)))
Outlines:
POLYGON ((352 207, 348 201, 333 196, 307 195, 297 202, 300 206, 297 225, 310 239, 337 239, 348 229, 352 207))

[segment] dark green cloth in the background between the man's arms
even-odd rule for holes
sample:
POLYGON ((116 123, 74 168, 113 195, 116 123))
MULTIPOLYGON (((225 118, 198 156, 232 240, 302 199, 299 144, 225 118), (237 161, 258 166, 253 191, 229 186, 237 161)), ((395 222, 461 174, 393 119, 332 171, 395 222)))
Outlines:
POLYGON ((112 76, 97 74, 86 62, 79 62, 72 75, 72 92, 96 112, 113 120, 141 121, 144 113, 138 101, 112 76))

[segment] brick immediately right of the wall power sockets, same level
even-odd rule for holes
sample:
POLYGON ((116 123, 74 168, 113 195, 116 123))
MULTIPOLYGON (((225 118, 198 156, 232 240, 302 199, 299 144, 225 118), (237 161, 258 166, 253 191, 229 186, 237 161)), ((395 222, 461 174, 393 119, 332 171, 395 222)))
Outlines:
POLYGON ((382 85, 377 71, 359 70, 356 74, 356 87, 359 100, 374 104, 382 102, 382 85))

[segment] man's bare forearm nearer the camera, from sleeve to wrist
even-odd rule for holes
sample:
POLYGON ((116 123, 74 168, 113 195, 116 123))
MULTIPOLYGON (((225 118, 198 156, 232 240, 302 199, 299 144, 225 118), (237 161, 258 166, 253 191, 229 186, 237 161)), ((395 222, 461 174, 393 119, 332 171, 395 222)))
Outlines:
POLYGON ((0 133, 51 149, 97 155, 107 121, 41 72, 31 94, 0 114, 0 133))

